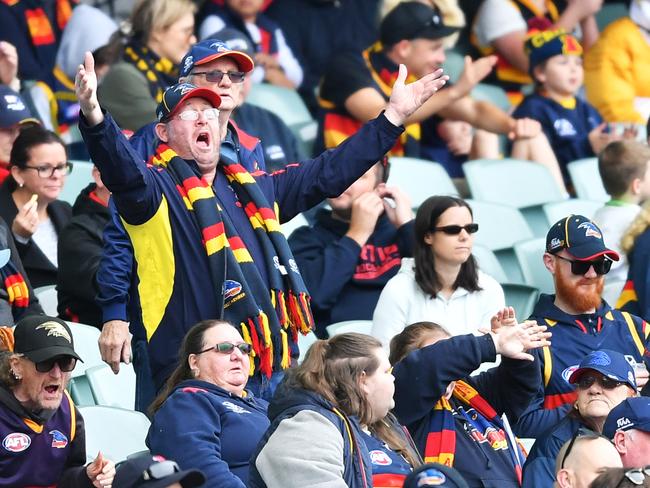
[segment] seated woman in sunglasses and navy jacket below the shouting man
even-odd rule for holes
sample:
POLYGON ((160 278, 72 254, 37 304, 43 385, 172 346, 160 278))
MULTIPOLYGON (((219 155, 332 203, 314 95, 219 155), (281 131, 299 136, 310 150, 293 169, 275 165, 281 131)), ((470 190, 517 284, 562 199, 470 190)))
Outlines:
POLYGON ((192 327, 178 366, 149 409, 151 452, 182 469, 200 469, 210 486, 247 486, 251 454, 269 426, 268 403, 246 390, 250 353, 227 322, 192 327))

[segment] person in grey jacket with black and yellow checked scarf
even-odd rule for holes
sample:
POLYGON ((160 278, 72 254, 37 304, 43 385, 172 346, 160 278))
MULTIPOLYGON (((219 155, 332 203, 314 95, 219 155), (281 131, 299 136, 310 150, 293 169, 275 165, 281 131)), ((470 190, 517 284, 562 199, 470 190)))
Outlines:
POLYGON ((138 0, 134 5, 123 58, 99 88, 102 106, 122 129, 136 131, 156 120, 163 92, 176 83, 178 64, 196 42, 195 9, 191 0, 138 0))

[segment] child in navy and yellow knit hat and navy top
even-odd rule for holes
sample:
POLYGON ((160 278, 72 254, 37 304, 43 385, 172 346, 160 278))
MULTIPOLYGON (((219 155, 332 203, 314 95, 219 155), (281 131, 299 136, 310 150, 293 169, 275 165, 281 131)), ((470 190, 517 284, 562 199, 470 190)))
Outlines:
POLYGON ((606 125, 588 102, 577 94, 582 88, 582 46, 563 30, 541 31, 526 41, 535 92, 524 98, 514 117, 530 117, 542 124, 565 181, 566 165, 592 157, 613 140, 606 125))

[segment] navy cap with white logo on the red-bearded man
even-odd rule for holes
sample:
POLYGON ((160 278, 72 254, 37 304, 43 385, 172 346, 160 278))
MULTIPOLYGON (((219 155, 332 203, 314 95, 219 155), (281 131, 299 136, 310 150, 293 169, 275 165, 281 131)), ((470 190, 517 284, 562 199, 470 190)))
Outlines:
POLYGON ((582 215, 569 215, 559 220, 546 234, 546 252, 556 254, 562 249, 580 261, 600 256, 619 260, 618 253, 605 246, 598 226, 582 215))

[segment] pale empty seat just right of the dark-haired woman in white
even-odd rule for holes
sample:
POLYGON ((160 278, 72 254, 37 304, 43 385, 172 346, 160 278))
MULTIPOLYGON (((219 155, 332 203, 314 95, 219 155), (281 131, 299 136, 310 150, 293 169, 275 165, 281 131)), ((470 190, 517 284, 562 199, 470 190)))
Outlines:
POLYGON ((496 203, 468 200, 474 213, 474 221, 479 230, 474 237, 474 244, 490 249, 499 259, 507 281, 524 283, 519 262, 514 254, 515 242, 532 239, 533 232, 516 208, 496 203))

